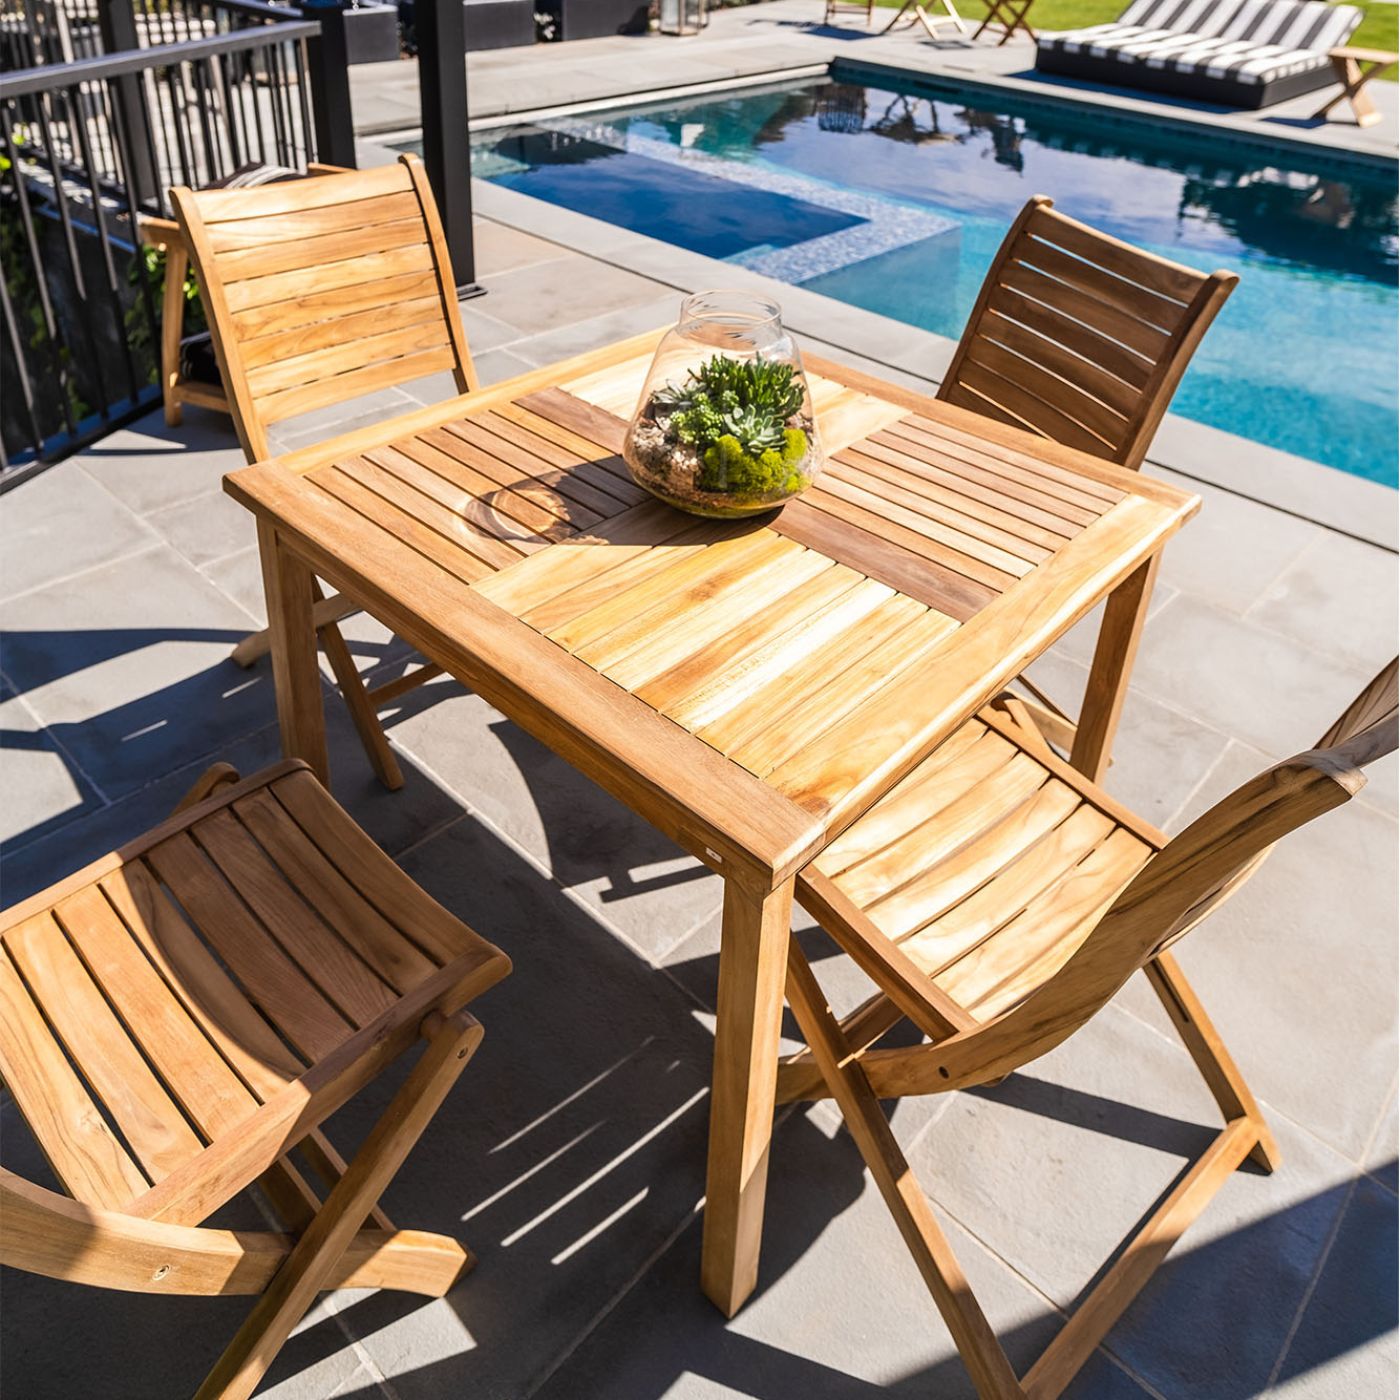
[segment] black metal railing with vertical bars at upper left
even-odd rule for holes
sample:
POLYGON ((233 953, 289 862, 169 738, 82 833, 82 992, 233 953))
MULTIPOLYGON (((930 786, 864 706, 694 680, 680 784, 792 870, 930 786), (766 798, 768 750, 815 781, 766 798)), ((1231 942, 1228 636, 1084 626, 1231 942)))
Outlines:
POLYGON ((64 57, 84 4, 50 3, 29 34, 39 62, 0 76, 0 484, 158 399, 160 272, 140 220, 168 216, 171 185, 353 162, 333 22, 322 42, 318 21, 258 0, 104 4, 115 52, 64 57))

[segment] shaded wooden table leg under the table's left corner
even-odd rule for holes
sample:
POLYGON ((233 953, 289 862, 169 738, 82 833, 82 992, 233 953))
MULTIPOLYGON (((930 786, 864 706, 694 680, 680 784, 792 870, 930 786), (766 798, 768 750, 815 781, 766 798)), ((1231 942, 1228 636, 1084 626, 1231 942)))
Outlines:
POLYGON ((272 675, 277 687, 277 724, 281 752, 304 759, 316 777, 329 784, 326 713, 316 662, 316 624, 312 615, 315 577, 279 538, 272 525, 258 522, 267 633, 272 640, 272 675))

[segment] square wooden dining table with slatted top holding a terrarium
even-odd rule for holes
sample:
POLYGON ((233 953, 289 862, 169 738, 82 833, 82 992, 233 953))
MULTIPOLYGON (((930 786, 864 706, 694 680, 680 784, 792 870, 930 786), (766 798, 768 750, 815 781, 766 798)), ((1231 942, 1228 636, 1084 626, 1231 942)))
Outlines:
POLYGON ((757 1280, 794 875, 1106 599, 1099 776, 1197 497, 808 358, 827 465, 704 521, 620 449, 661 330, 225 477, 258 518, 287 756, 326 780, 316 577, 724 881, 701 1284, 757 1280))

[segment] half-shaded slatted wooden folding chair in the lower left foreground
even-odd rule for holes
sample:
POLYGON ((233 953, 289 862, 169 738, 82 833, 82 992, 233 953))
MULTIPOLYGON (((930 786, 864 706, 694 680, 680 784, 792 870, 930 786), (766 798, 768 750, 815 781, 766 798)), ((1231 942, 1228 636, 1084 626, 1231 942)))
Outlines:
POLYGON ((0 1077, 67 1191, 0 1172, 0 1263, 260 1295, 199 1400, 251 1394, 322 1289, 441 1296, 470 1252, 378 1200, 480 1042, 466 1005, 510 966, 305 764, 216 766, 164 825, 0 916, 0 1077), (419 1037, 347 1166, 321 1124, 419 1037), (255 1183, 286 1231, 200 1224, 255 1183))

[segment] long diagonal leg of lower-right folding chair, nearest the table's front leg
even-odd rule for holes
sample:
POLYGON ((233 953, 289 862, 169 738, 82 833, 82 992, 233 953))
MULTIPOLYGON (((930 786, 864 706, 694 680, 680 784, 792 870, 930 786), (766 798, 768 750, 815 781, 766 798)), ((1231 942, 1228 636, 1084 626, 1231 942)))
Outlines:
POLYGON ((871 1092, 865 1071, 850 1054, 822 988, 795 942, 788 945, 787 991, 808 1047, 841 1107, 846 1127, 861 1149, 928 1291, 934 1295, 977 1386, 977 1394, 983 1400, 1022 1397, 1025 1392, 1016 1373, 977 1305, 962 1266, 934 1218, 928 1197, 904 1161, 879 1100, 871 1092))

